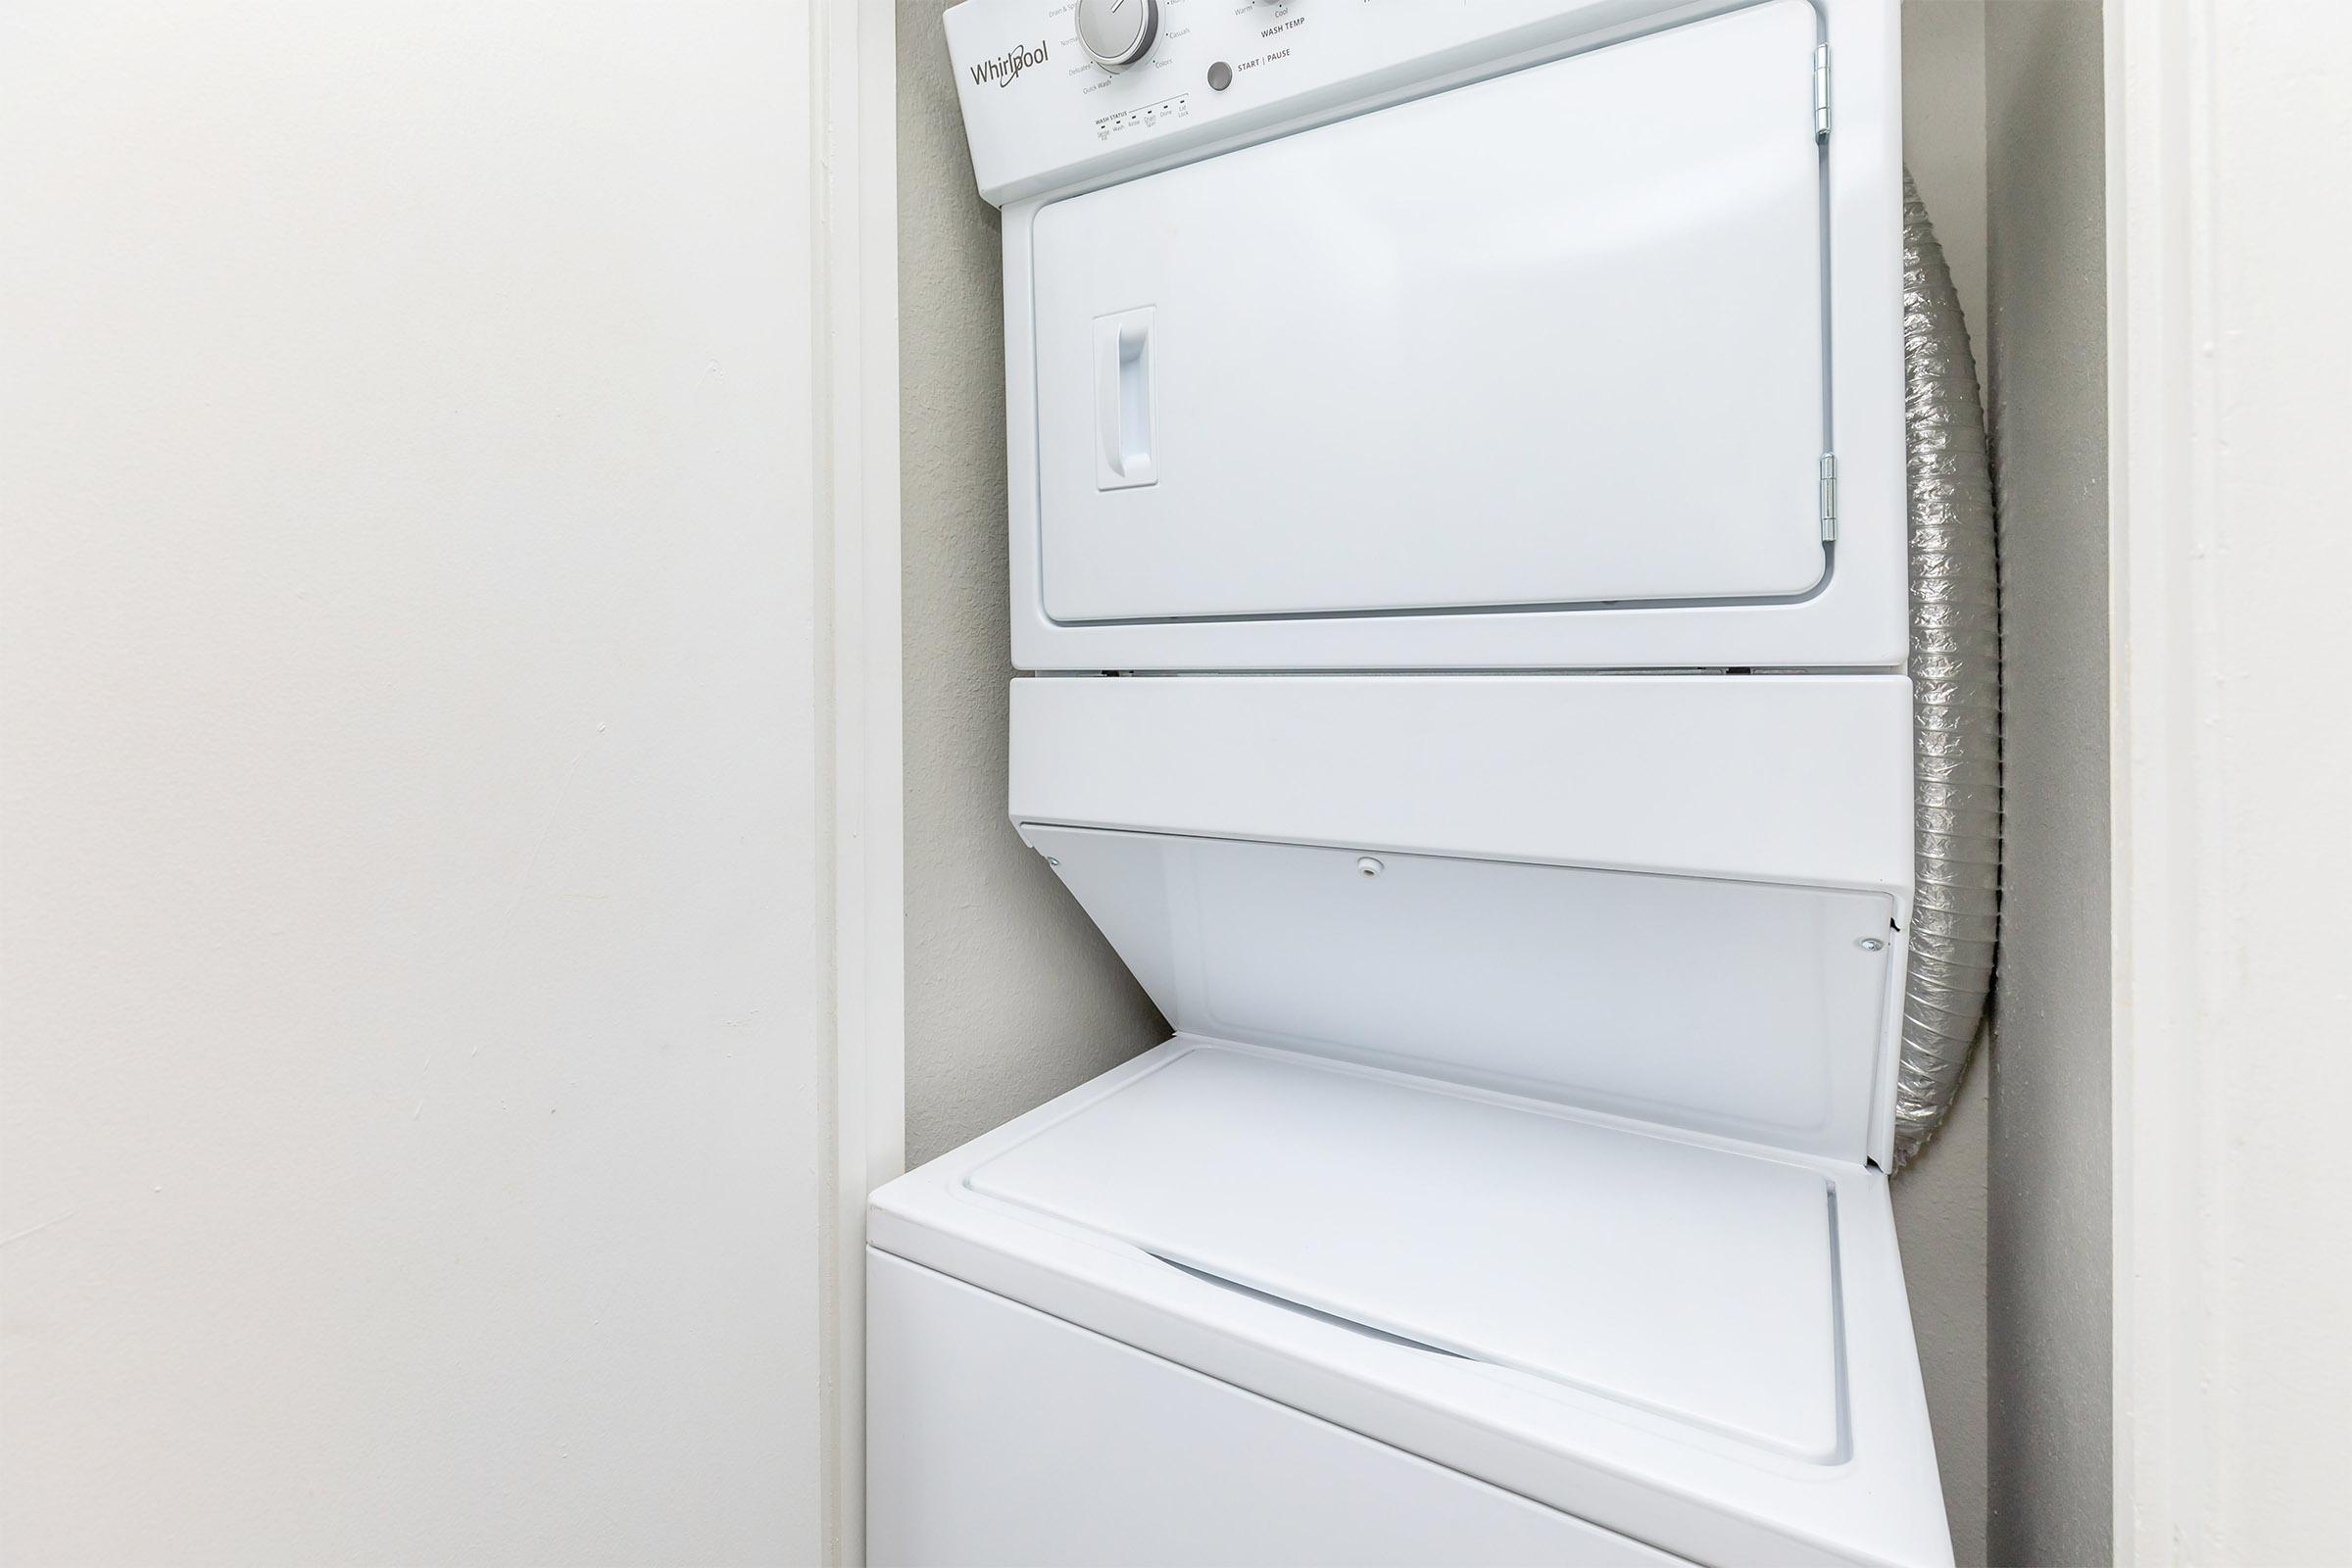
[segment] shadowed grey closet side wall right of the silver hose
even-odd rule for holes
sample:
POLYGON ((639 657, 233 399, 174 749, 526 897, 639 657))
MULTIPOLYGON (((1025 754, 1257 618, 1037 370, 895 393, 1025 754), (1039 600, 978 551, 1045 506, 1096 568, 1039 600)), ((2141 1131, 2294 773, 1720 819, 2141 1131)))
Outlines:
POLYGON ((1985 28, 2004 870, 1992 1561, 2110 1561, 2107 273, 2096 0, 1985 28))

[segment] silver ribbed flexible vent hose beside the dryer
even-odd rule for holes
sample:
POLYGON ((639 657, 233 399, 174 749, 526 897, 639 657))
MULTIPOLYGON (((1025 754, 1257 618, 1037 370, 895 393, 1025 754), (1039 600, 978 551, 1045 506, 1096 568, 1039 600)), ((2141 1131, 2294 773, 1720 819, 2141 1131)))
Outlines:
POLYGON ((1919 898, 1903 980, 1896 1171, 1933 1138, 1969 1067, 2002 898, 2002 602, 1985 404, 1952 270, 1907 172, 1903 421, 1919 898))

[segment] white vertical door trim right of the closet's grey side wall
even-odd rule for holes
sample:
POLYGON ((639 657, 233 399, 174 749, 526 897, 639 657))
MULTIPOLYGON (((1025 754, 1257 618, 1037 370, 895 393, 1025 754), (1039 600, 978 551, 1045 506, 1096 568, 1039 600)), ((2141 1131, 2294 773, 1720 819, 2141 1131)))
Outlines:
POLYGON ((2211 87, 2199 0, 2107 0, 2114 1559, 2201 1561, 2218 1258, 2199 1060, 2211 710, 2211 87))

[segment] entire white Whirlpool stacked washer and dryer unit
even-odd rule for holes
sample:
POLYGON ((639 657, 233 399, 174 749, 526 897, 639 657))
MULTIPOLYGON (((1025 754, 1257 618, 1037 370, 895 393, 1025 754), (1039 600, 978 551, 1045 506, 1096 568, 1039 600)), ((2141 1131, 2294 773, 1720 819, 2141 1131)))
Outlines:
POLYGON ((877 1563, 1947 1563, 1896 0, 967 0, 1011 820, 1176 1037, 873 1201, 877 1563))

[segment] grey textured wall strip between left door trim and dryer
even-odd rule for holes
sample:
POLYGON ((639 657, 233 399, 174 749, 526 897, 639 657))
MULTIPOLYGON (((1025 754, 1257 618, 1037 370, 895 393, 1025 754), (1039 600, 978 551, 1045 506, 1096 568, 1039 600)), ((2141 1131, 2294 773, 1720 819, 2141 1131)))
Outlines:
POLYGON ((946 0, 898 5, 906 1135, 920 1164, 1167 1039, 1004 818, 1004 322, 946 0))

